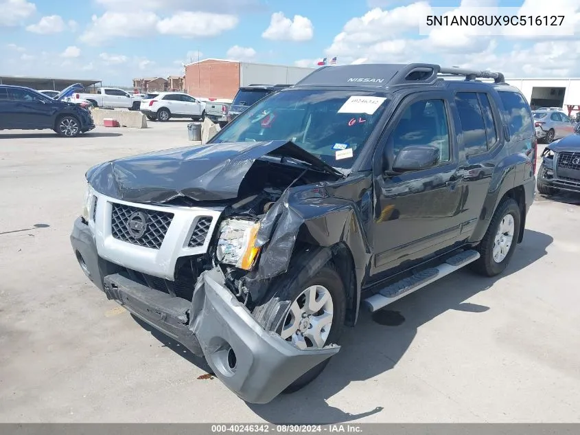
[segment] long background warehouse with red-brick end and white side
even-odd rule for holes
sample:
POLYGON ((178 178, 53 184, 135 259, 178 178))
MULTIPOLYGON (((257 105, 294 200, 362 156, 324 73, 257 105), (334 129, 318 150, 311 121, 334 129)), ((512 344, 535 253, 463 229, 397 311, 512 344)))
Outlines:
POLYGON ((241 86, 293 85, 314 69, 205 59, 185 65, 185 92, 200 98, 231 100, 241 86))

